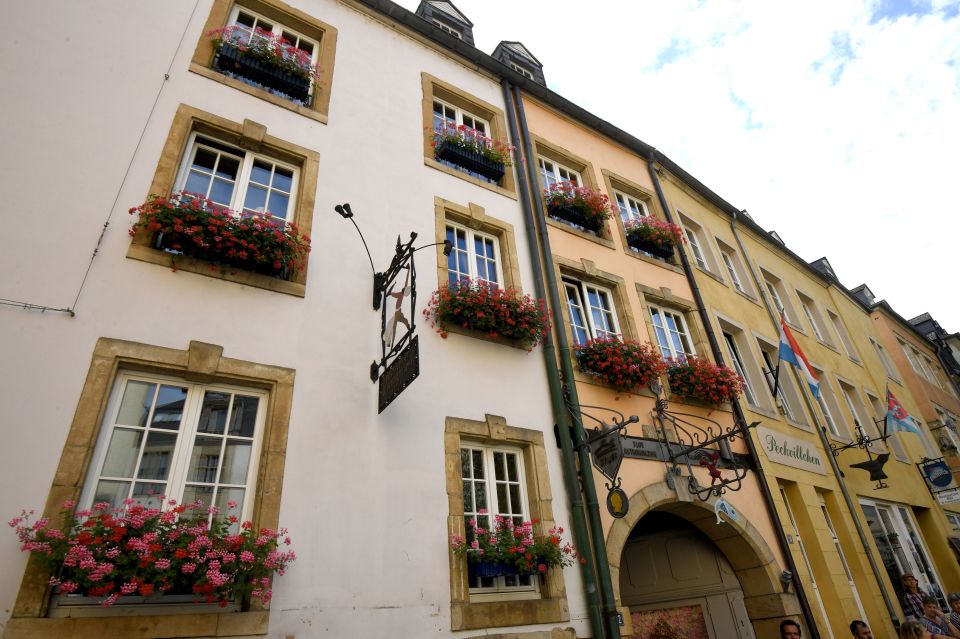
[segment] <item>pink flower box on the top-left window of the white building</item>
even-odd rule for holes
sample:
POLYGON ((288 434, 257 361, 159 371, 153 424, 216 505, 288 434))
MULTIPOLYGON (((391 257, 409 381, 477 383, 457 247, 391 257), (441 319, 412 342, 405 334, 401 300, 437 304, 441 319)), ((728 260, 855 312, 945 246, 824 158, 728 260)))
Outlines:
POLYGON ((257 28, 233 25, 207 34, 217 55, 213 66, 293 100, 306 103, 310 84, 318 76, 310 54, 298 49, 279 35, 257 28))

